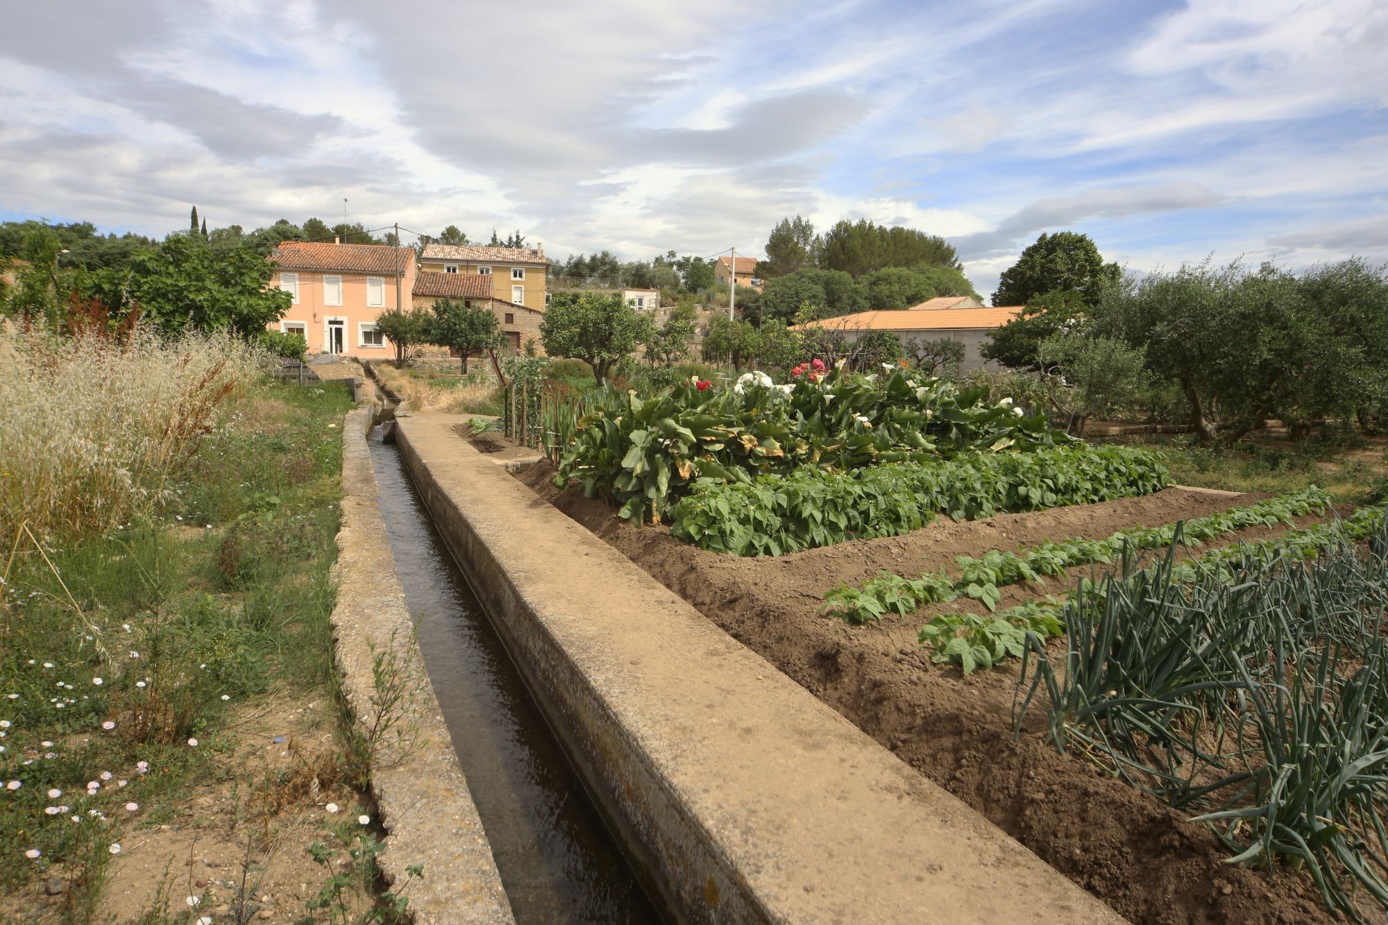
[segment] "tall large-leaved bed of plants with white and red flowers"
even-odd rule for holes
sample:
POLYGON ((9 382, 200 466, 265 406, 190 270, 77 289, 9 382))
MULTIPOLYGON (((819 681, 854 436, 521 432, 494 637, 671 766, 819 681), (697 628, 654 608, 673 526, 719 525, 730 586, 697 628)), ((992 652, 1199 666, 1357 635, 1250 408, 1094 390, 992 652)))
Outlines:
POLYGON ((854 469, 1074 443, 1044 415, 985 404, 985 394, 897 367, 880 376, 830 369, 780 386, 763 374, 727 389, 686 381, 647 399, 608 385, 587 396, 557 483, 576 478, 627 519, 659 521, 700 478, 751 482, 801 465, 854 469))

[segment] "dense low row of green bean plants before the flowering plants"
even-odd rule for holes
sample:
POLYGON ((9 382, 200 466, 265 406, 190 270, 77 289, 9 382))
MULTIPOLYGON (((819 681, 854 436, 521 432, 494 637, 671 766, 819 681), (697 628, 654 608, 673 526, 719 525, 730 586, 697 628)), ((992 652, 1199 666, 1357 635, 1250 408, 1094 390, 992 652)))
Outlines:
POLYGON ((938 514, 974 519, 1148 494, 1166 485, 1166 469, 1149 453, 1119 446, 973 451, 847 472, 802 467, 745 482, 701 479, 670 510, 670 532, 720 553, 780 556, 899 536, 938 514))

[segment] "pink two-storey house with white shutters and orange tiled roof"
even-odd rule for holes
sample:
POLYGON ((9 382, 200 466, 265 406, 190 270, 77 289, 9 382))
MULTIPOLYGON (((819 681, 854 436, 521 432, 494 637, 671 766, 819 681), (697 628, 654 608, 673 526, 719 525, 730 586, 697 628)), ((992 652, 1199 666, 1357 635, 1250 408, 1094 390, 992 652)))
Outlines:
POLYGON ((276 264, 271 285, 294 297, 272 328, 303 335, 310 353, 364 360, 393 356, 376 331, 376 318, 390 308, 409 307, 412 249, 286 240, 269 258, 276 264))

